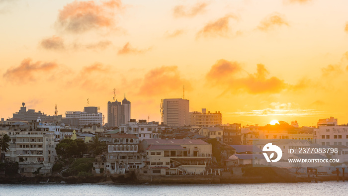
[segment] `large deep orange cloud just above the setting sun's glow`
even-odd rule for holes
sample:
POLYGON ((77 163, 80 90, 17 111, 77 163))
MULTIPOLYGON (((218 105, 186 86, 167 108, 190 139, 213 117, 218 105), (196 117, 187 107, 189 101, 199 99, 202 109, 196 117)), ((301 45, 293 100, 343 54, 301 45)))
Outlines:
POLYGON ((239 63, 219 60, 206 74, 210 84, 227 88, 226 91, 243 90, 250 94, 279 93, 289 87, 283 80, 277 77, 267 77, 269 72, 262 64, 257 65, 255 74, 247 73, 239 63))

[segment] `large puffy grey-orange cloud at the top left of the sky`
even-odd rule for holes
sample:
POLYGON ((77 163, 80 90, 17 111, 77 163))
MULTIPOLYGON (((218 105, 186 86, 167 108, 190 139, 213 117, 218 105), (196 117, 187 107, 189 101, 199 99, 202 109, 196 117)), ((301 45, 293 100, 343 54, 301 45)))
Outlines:
POLYGON ((59 10, 57 24, 63 30, 72 33, 82 33, 96 28, 113 28, 115 11, 121 9, 121 0, 109 0, 99 4, 93 0, 75 0, 59 10))

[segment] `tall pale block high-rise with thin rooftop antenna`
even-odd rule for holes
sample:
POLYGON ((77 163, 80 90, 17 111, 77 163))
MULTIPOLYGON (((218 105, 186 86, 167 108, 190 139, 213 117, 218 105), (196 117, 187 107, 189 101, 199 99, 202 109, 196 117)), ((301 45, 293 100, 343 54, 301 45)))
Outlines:
POLYGON ((168 126, 190 125, 189 100, 166 98, 161 100, 162 122, 168 126))

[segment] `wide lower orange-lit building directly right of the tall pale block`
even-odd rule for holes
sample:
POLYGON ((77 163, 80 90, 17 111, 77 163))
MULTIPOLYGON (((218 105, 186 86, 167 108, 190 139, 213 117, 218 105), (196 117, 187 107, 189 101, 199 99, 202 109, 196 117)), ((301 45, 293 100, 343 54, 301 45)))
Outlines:
POLYGON ((202 108, 201 112, 193 111, 191 114, 191 126, 198 127, 209 127, 212 125, 222 124, 222 113, 220 111, 215 111, 211 113, 210 111, 206 112, 205 108, 202 108))

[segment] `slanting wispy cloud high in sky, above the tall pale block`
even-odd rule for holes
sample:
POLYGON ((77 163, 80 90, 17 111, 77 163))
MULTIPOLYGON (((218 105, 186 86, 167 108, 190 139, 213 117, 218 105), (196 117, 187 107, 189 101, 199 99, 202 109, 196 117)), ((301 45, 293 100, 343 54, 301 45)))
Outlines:
POLYGON ((237 16, 228 14, 222 18, 219 18, 215 21, 207 23, 198 33, 197 36, 204 37, 226 37, 230 32, 229 21, 230 19, 238 19, 237 16))

